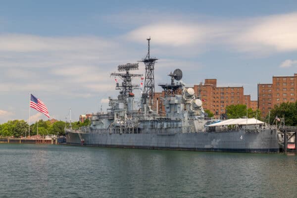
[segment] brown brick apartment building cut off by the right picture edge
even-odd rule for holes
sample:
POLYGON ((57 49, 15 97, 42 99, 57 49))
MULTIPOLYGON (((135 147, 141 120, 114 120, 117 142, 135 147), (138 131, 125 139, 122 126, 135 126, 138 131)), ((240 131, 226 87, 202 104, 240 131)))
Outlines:
POLYGON ((273 76, 272 84, 258 84, 258 107, 266 116, 274 105, 295 102, 297 99, 297 74, 273 76))

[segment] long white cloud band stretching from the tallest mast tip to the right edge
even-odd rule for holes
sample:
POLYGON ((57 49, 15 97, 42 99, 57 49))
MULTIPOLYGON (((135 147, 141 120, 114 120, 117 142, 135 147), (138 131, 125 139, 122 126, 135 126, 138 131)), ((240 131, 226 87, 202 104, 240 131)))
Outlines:
POLYGON ((297 50, 296 18, 296 12, 235 20, 212 18, 207 23, 181 18, 138 27, 126 38, 143 43, 144 38, 151 36, 160 46, 187 46, 190 52, 207 50, 209 46, 263 54, 294 51, 297 50))

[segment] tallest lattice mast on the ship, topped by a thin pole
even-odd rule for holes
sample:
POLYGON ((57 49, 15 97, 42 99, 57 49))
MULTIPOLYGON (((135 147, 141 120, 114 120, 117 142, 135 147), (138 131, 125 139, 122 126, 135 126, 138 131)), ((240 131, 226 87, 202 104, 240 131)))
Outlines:
POLYGON ((148 54, 144 59, 140 61, 145 63, 145 67, 146 67, 145 87, 144 87, 144 93, 142 95, 142 102, 144 104, 147 104, 147 99, 149 99, 148 104, 152 106, 153 96, 154 96, 154 63, 158 59, 155 57, 154 58, 150 57, 150 54, 149 54, 150 38, 148 38, 147 40, 148 40, 148 54))

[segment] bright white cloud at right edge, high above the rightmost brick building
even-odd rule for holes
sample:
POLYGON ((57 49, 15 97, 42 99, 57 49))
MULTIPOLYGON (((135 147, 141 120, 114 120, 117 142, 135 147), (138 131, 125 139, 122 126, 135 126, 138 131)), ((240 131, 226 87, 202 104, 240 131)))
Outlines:
POLYGON ((243 50, 269 48, 276 51, 297 50, 297 13, 271 15, 253 19, 235 35, 235 43, 243 50))

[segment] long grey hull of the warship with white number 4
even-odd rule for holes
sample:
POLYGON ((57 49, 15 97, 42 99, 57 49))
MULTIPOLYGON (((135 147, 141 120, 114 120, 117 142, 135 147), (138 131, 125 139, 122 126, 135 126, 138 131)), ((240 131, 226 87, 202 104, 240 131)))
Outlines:
POLYGON ((102 134, 68 131, 71 145, 227 152, 279 152, 276 130, 176 134, 102 134))

